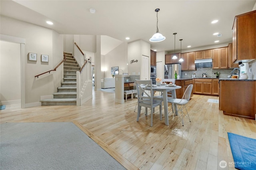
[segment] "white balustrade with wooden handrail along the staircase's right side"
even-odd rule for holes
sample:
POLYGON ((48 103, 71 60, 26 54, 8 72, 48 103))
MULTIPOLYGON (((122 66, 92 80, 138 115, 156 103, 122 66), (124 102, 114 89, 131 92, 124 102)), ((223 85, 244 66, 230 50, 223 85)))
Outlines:
MULTIPOLYGON (((86 97, 86 86, 91 82, 91 62, 90 59, 86 60, 86 57, 80 47, 74 43, 74 57, 80 66, 80 71, 76 71, 76 105, 82 105, 89 97, 86 97)), ((90 85, 90 84, 89 84, 90 85)))

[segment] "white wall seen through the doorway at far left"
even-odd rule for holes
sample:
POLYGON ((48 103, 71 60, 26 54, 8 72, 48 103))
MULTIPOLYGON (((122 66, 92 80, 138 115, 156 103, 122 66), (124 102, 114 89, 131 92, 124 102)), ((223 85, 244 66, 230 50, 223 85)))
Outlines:
POLYGON ((20 104, 20 44, 0 41, 0 47, 0 105, 20 104))

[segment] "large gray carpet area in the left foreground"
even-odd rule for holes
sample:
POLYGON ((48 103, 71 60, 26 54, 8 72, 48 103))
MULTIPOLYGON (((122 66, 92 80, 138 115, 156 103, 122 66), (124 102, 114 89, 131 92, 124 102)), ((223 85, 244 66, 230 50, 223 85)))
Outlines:
POLYGON ((123 170, 74 123, 4 123, 1 170, 123 170))

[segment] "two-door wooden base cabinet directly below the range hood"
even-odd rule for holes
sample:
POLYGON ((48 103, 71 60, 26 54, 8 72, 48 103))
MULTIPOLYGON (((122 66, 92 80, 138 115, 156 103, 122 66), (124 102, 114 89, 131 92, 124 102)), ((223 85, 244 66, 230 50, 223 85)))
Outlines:
POLYGON ((194 93, 212 95, 212 79, 194 79, 194 93))

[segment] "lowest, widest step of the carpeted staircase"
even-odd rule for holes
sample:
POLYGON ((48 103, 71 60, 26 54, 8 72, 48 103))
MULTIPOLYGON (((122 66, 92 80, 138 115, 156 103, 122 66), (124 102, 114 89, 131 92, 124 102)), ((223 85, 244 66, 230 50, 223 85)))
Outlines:
POLYGON ((41 101, 42 106, 54 105, 76 105, 76 99, 45 99, 41 101))

